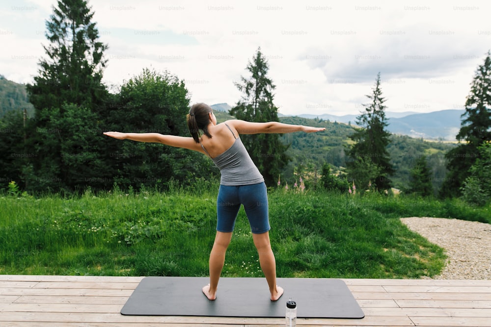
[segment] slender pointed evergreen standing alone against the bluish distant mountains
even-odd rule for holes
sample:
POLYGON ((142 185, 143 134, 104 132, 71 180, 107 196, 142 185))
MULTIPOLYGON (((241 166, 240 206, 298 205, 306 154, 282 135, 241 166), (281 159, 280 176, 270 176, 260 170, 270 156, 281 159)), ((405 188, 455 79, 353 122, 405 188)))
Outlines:
MULTIPOLYGON (((388 123, 385 118, 386 106, 383 104, 385 99, 382 97, 380 87, 380 73, 377 75, 375 87, 372 90, 372 94, 367 95, 367 98, 371 100, 370 103, 363 104, 365 112, 356 117, 357 125, 363 128, 357 129, 350 136, 355 144, 348 150, 347 155, 351 160, 346 164, 348 175, 352 179, 356 179, 356 176, 362 177, 364 171, 376 172, 378 169, 378 175, 371 179, 371 182, 375 188, 382 191, 391 187, 391 180, 388 176, 394 173, 394 169, 387 151, 390 133, 385 130, 388 123)), ((366 178, 363 178, 363 184, 359 186, 367 187, 368 184, 365 185, 364 179, 366 178)), ((359 184, 356 180, 355 183, 359 184)))

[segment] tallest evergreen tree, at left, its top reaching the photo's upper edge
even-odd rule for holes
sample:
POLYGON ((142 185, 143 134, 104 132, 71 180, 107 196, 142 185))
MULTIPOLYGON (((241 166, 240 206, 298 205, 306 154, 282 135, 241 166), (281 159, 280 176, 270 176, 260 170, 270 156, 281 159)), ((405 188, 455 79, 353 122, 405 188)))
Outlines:
POLYGON ((106 187, 99 181, 109 175, 102 137, 108 93, 101 83, 107 46, 87 1, 60 0, 53 11, 46 22, 47 58, 27 85, 35 108, 27 144, 36 176, 28 184, 34 191, 106 187))

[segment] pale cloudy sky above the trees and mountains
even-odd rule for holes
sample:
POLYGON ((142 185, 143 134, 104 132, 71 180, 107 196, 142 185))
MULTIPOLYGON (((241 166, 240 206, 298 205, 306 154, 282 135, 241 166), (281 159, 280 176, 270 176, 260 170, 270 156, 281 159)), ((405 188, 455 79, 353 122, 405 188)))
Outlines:
MULTIPOLYGON (((30 83, 54 0, 2 0, 0 74, 30 83)), ((491 49, 488 0, 89 0, 109 49, 103 82, 143 69, 184 80, 191 104, 226 102, 258 48, 285 115, 359 114, 380 72, 390 112, 463 109, 491 49)))

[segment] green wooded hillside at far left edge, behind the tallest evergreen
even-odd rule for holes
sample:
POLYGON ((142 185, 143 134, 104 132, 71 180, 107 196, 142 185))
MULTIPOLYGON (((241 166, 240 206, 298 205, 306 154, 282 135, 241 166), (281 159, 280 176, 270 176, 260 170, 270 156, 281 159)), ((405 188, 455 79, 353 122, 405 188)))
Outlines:
POLYGON ((34 106, 27 100, 26 85, 18 84, 0 75, 0 118, 8 111, 27 110, 27 116, 34 115, 34 106))

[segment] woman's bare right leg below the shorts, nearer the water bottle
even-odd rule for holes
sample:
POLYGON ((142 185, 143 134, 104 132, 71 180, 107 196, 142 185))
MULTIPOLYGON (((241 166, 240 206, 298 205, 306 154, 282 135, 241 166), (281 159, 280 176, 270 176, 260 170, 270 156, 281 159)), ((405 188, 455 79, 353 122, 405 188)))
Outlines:
POLYGON ((276 301, 283 295, 283 289, 276 285, 276 261, 271 249, 270 234, 269 232, 252 234, 252 240, 259 254, 259 264, 270 288, 271 301, 276 301))

